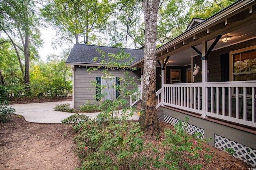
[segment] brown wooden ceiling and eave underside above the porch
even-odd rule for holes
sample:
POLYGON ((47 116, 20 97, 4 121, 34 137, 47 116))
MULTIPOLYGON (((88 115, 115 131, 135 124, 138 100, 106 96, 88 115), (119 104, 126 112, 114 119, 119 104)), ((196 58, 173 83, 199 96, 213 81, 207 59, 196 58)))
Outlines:
POLYGON ((156 60, 170 56, 167 65, 185 66, 191 64, 191 57, 198 55, 196 51, 191 48, 192 46, 195 46, 202 52, 202 41, 206 41, 207 47, 209 48, 218 35, 229 35, 232 37, 228 42, 222 42, 220 39, 214 49, 212 49, 212 51, 214 51, 256 38, 255 1, 253 4, 247 4, 244 8, 240 9, 240 11, 236 11, 236 13, 234 12, 232 15, 215 20, 215 23, 210 22, 211 20, 214 20, 214 17, 208 20, 209 24, 207 24, 207 22, 201 24, 202 29, 197 29, 196 26, 186 31, 180 37, 158 48, 156 60), (193 29, 195 30, 193 31, 193 29), (193 34, 189 33, 191 31, 193 34))

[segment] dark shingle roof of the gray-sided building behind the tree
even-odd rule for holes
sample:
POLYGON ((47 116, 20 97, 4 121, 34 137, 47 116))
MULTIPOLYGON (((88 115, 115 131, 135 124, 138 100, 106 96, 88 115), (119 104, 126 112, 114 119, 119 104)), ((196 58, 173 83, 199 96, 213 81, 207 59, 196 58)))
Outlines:
MULTIPOLYGON (((68 59, 66 61, 67 64, 95 64, 92 62, 92 59, 98 57, 100 59, 101 53, 98 52, 96 49, 106 53, 119 53, 122 50, 124 53, 130 54, 130 57, 134 57, 133 63, 142 59, 144 57, 144 50, 140 49, 124 49, 124 48, 116 48, 116 47, 102 47, 96 45, 83 45, 83 44, 75 44, 72 48, 68 59)), ((108 61, 107 59, 105 59, 108 61)), ((98 60, 96 63, 100 63, 98 60)))

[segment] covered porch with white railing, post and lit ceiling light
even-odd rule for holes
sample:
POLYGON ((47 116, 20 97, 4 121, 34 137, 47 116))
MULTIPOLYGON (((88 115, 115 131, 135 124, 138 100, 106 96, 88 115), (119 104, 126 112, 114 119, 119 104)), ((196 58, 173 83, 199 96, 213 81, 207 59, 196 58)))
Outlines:
MULTIPOLYGON (((255 128, 255 27, 256 2, 238 1, 159 47, 157 107, 255 128), (196 66, 200 70, 193 78, 196 66)), ((143 75, 143 60, 134 66, 143 75)))

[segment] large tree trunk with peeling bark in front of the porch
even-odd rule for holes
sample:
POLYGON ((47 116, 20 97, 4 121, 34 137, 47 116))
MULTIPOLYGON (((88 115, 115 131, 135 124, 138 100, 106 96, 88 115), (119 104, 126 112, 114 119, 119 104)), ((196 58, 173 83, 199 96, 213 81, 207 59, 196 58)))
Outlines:
POLYGON ((159 133, 156 112, 156 19, 159 0, 142 0, 145 19, 143 92, 139 122, 149 135, 159 133))

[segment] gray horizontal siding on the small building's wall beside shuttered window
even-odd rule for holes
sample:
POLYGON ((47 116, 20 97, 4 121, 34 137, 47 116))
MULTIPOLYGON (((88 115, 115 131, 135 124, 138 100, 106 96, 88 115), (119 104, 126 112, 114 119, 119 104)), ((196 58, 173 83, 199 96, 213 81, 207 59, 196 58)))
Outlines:
MULTIPOLYGON (((114 76, 120 77, 122 72, 120 70, 116 70, 114 76)), ((94 71, 90 74, 87 72, 87 68, 85 66, 75 66, 75 77, 74 77, 74 108, 79 109, 79 106, 95 103, 95 99, 93 98, 96 95, 96 89, 91 85, 90 81, 96 80, 96 77, 102 76, 100 71, 94 71)), ((129 74, 129 76, 136 76, 136 80, 140 78, 140 71, 136 70, 129 74)), ((121 82, 122 83, 122 82, 121 82)), ((140 84, 140 81, 136 82, 140 84)), ((134 88, 133 86, 129 86, 128 89, 134 88)))

